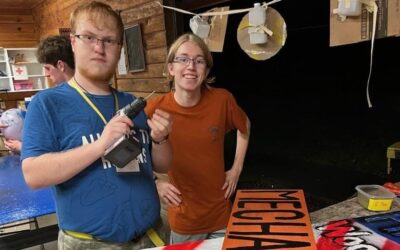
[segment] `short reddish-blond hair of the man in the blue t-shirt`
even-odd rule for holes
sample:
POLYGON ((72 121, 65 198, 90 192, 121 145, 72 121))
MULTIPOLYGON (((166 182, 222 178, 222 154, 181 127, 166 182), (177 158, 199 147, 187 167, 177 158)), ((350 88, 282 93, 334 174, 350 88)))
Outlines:
POLYGON ((98 25, 97 27, 99 28, 103 28, 104 26, 110 29, 116 28, 118 31, 119 42, 120 44, 123 43, 124 24, 119 13, 113 10, 110 5, 97 1, 79 5, 70 16, 72 34, 76 34, 78 19, 81 15, 86 15, 86 17, 91 20, 94 25, 98 25), (113 26, 113 23, 105 21, 105 17, 111 17, 114 19, 116 27, 113 26))

